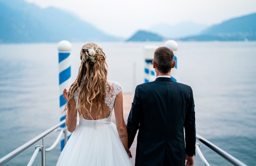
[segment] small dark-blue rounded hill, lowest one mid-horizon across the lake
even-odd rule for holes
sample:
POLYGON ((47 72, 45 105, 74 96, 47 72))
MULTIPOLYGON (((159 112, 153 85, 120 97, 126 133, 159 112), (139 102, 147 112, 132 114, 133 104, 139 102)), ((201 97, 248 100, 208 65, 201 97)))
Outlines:
POLYGON ((140 30, 126 41, 163 41, 163 40, 164 38, 162 36, 159 36, 158 34, 140 30))

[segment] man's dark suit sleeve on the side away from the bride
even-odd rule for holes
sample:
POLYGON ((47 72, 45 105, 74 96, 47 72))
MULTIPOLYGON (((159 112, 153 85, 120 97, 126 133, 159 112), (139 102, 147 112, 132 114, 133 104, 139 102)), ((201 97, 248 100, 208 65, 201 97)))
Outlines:
POLYGON ((186 142, 186 154, 188 156, 195 155, 195 104, 193 99, 193 91, 190 87, 191 95, 189 99, 189 106, 187 108, 185 117, 185 142, 186 142))

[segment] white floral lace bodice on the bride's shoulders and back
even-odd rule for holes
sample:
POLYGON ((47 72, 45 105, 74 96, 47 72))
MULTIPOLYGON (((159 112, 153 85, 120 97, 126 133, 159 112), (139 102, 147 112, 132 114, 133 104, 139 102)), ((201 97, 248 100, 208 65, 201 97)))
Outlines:
MULTIPOLYGON (((109 115, 109 117, 110 117, 112 115, 116 96, 122 91, 123 87, 116 81, 108 80, 108 83, 110 84, 110 87, 108 86, 108 84, 106 84, 105 103, 107 104, 108 107, 110 107, 110 111, 111 111, 110 115, 109 115), (109 89, 110 89, 110 91, 109 91, 109 89)), ((75 94, 74 94, 75 103, 77 103, 77 95, 78 95, 78 93, 75 92, 75 94)))

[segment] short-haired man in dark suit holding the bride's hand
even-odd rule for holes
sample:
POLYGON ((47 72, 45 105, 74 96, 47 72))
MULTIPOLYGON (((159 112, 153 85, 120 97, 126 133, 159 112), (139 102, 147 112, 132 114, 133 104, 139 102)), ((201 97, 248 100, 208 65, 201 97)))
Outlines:
POLYGON ((186 166, 194 164, 195 110, 191 87, 174 82, 173 51, 154 52, 156 80, 136 87, 127 121, 128 147, 138 131, 135 166, 186 166), (185 128, 185 140, 184 140, 185 128))

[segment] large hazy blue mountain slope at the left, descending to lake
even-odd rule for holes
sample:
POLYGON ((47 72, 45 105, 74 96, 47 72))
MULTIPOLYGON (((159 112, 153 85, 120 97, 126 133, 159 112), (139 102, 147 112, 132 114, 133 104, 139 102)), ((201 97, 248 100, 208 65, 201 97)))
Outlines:
POLYGON ((23 0, 0 0, 0 20, 0 43, 121 40, 72 13, 23 0))

